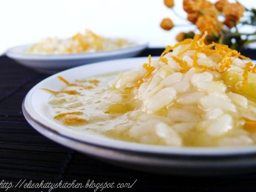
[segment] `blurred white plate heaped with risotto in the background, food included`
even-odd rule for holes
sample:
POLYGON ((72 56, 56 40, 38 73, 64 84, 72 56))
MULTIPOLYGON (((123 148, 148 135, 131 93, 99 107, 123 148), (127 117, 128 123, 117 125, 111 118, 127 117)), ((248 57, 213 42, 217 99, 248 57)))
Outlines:
POLYGON ((25 67, 52 74, 84 64, 134 57, 147 47, 142 38, 104 38, 87 32, 64 40, 48 38, 38 44, 20 45, 6 55, 25 67))

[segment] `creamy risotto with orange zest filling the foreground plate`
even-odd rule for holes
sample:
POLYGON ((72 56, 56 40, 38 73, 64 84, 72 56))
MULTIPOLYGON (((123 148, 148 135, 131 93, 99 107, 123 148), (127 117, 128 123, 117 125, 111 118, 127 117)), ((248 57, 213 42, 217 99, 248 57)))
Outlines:
POLYGON ((136 70, 76 80, 53 95, 53 118, 77 131, 169 146, 256 143, 256 67, 202 38, 167 46, 136 70))

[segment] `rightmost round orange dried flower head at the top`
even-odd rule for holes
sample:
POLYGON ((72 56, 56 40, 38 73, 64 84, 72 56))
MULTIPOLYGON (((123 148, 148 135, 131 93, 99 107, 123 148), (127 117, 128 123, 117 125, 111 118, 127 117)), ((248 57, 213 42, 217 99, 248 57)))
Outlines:
POLYGON ((244 15, 244 7, 240 3, 227 3, 223 7, 226 20, 238 21, 244 15))

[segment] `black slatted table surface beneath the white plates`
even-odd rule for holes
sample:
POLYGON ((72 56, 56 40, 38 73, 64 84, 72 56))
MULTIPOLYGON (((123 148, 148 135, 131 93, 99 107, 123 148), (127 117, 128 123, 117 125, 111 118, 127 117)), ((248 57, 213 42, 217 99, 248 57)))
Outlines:
MULTIPOLYGON (((161 51, 147 49, 140 56, 159 55, 161 51)), ((16 184, 20 179, 33 182, 76 180, 86 184, 88 179, 96 183, 128 183, 137 179, 131 189, 116 191, 255 191, 256 173, 226 177, 152 174, 104 163, 52 142, 35 131, 21 111, 26 93, 47 76, 23 67, 5 55, 0 56, 0 181, 16 184)))

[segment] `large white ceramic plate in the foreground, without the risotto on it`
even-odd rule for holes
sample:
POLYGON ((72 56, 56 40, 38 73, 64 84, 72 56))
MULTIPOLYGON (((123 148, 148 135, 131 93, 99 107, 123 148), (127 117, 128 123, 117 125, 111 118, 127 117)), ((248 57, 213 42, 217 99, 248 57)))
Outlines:
MULTIPOLYGON (((153 58, 154 59, 154 58, 153 58)), ((87 64, 48 77, 33 87, 23 102, 23 113, 37 131, 57 143, 103 160, 151 172, 179 175, 223 175, 256 171, 256 146, 236 148, 189 148, 145 145, 81 133, 55 121, 48 112, 50 93, 63 83, 104 73, 130 70, 148 58, 129 58, 87 64)))

